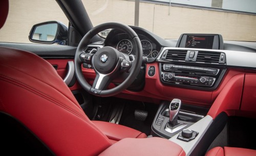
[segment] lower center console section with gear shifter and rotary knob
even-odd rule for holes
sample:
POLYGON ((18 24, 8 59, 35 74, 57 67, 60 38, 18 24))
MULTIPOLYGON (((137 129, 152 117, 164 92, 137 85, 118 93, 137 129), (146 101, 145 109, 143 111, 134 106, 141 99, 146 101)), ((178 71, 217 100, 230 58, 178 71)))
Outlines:
MULTIPOLYGON (((182 101, 180 99, 173 99, 172 101, 163 101, 159 106, 158 112, 152 124, 152 136, 161 138, 172 138, 177 133, 180 133, 181 140, 190 141, 197 136, 197 132, 191 132, 190 135, 194 134, 194 138, 191 136, 182 137, 187 135, 187 127, 193 125, 195 122, 202 119, 204 116, 189 113, 182 108, 182 101)), ((197 108, 198 109, 198 108, 197 108)), ((202 112, 204 112, 203 110, 202 112)))

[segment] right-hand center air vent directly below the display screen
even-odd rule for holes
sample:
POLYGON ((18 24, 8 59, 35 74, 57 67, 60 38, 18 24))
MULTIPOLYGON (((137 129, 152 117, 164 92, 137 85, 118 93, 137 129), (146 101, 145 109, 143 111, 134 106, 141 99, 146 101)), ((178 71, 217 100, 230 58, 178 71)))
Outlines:
POLYGON ((199 51, 197 54, 197 62, 204 62, 204 63, 219 63, 221 53, 219 52, 206 52, 206 51, 199 51))

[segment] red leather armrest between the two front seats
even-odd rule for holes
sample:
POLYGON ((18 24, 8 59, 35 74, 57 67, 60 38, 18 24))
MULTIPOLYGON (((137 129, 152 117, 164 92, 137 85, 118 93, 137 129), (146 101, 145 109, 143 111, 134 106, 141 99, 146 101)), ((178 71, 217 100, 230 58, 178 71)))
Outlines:
POLYGON ((163 138, 126 138, 113 144, 99 155, 101 156, 130 156, 130 155, 168 155, 185 156, 185 151, 178 144, 163 138))

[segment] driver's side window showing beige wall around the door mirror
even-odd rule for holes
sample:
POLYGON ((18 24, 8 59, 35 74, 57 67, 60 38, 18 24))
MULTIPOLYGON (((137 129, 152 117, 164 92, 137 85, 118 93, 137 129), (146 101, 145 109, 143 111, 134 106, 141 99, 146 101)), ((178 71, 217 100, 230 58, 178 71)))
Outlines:
MULTIPOLYGON (((29 40, 31 28, 35 24, 46 21, 58 21, 66 26, 69 24, 56 1, 9 0, 9 13, 4 27, 0 30, 0 42, 33 43, 29 40)), ((47 29, 47 27, 42 29, 47 29)), ((51 30, 46 30, 47 36, 40 34, 40 30, 37 31, 33 36, 36 39, 52 40, 54 37, 54 32, 51 30)))

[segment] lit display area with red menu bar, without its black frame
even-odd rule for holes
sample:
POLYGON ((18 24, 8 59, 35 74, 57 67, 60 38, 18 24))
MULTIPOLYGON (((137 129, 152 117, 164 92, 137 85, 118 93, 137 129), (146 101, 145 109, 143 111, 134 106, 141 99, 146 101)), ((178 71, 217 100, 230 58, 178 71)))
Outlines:
POLYGON ((185 48, 212 49, 214 36, 187 35, 185 48))

